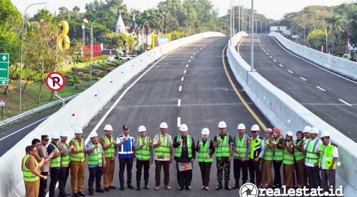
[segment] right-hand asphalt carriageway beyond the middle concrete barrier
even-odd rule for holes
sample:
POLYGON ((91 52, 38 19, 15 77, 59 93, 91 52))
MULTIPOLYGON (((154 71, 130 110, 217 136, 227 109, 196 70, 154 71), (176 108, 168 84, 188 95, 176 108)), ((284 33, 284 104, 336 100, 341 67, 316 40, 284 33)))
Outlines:
MULTIPOLYGON (((239 53, 248 64, 250 40, 250 37, 244 37, 239 46, 239 53)), ((316 116, 357 142, 356 81, 293 55, 267 35, 254 38, 254 69, 316 116)))

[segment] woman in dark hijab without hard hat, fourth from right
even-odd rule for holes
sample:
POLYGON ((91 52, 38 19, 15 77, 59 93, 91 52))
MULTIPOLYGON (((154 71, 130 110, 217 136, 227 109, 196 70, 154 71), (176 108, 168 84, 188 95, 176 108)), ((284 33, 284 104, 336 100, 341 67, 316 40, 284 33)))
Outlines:
POLYGON ((295 173, 296 173, 296 180, 297 180, 297 186, 299 188, 303 188, 304 186, 307 186, 307 175, 306 175, 306 170, 305 170, 305 165, 304 165, 304 159, 305 159, 305 150, 303 146, 304 134, 299 130, 299 132, 296 132, 296 138, 295 142, 292 143, 294 146, 294 160, 295 160, 295 173))

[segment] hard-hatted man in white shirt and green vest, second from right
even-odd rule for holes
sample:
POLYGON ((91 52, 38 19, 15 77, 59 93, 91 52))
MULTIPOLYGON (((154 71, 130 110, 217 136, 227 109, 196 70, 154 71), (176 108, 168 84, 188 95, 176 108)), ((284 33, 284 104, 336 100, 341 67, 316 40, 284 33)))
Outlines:
POLYGON ((307 172, 307 178, 309 181, 309 189, 317 189, 320 186, 320 169, 319 169, 319 157, 321 140, 318 138, 319 129, 312 127, 310 130, 310 139, 306 141, 304 149, 306 152, 305 168, 307 172))

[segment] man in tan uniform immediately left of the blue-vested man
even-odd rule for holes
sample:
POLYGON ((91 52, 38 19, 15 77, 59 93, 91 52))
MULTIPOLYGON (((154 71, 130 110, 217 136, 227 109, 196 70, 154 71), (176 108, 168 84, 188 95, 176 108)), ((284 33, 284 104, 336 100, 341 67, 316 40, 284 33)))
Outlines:
POLYGON ((110 124, 104 126, 104 135, 101 137, 99 143, 102 145, 105 152, 105 161, 107 162, 103 172, 103 185, 105 191, 116 189, 113 185, 115 156, 118 148, 113 137, 113 127, 110 124))

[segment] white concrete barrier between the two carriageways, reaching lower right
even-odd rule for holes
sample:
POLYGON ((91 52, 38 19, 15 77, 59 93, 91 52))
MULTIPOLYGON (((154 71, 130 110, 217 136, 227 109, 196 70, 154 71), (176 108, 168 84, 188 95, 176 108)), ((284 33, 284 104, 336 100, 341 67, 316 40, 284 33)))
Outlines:
POLYGON ((250 72, 250 65, 243 60, 234 46, 246 36, 239 32, 228 42, 227 57, 230 68, 242 85, 247 95, 268 118, 272 125, 279 127, 282 133, 291 130, 296 133, 305 125, 316 126, 320 132, 330 132, 331 141, 338 145, 341 166, 336 170, 336 186, 344 186, 345 196, 357 196, 357 144, 341 132, 307 110, 299 102, 275 87, 257 72, 250 72))

